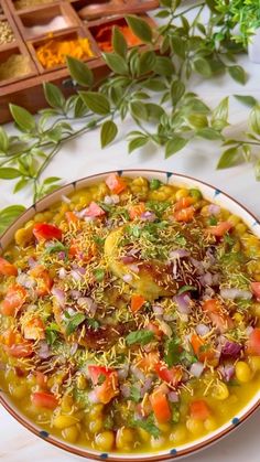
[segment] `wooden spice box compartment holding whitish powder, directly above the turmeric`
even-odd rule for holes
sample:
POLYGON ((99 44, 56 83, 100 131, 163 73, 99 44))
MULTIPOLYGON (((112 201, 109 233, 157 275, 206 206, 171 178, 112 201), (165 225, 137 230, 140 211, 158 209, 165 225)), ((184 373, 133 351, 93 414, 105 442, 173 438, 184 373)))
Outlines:
POLYGON ((30 11, 19 11, 15 22, 25 40, 44 36, 52 32, 62 32, 80 25, 77 14, 69 3, 54 3, 35 8, 30 11))

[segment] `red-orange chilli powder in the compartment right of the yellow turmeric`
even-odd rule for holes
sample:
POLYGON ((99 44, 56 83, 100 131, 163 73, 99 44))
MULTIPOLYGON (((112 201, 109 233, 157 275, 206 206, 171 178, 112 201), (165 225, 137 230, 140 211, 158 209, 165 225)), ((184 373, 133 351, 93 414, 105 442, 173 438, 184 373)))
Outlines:
MULTIPOLYGON (((98 46, 104 52, 111 52, 112 51, 112 28, 115 24, 108 24, 105 26, 100 26, 97 34, 95 35, 95 39, 98 43, 98 46)), ((117 24, 116 24, 117 25, 117 24)), ((124 36, 124 40, 128 44, 128 46, 134 46, 140 45, 142 41, 134 35, 134 33, 131 31, 131 29, 126 25, 117 25, 122 35, 124 36)))

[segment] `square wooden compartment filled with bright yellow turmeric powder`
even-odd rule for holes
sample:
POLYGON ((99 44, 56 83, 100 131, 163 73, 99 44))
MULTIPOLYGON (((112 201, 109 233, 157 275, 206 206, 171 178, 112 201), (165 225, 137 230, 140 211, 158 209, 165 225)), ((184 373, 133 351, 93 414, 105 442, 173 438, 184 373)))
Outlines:
POLYGON ((93 40, 90 33, 85 30, 84 28, 78 28, 76 30, 72 30, 69 32, 56 32, 53 33, 53 35, 45 36, 44 39, 37 39, 33 41, 28 42, 28 47, 31 52, 31 55, 33 56, 33 60, 36 64, 36 67, 41 74, 50 73, 50 71, 56 71, 59 68, 66 67, 66 60, 64 60, 63 63, 61 63, 59 56, 62 55, 69 55, 69 50, 74 49, 74 41, 84 40, 84 42, 75 43, 75 46, 80 47, 83 50, 86 49, 86 53, 82 58, 82 61, 91 61, 96 60, 98 56, 100 56, 99 49, 95 41, 93 40), (91 52, 91 55, 87 53, 87 49, 89 47, 89 51, 91 52), (52 56, 50 54, 53 53, 52 56), (41 54, 41 57, 40 57, 41 54), (46 56, 46 58, 45 58, 46 56), (53 60, 53 65, 51 65, 53 60), (46 61, 46 65, 44 65, 44 62, 46 61), (55 62, 57 64, 55 64, 55 62))

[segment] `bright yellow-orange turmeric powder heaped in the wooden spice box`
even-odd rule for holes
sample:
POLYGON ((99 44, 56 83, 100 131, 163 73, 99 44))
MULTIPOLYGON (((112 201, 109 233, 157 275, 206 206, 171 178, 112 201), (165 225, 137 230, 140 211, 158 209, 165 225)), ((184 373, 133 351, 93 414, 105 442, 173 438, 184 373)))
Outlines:
POLYGON ((94 56, 88 39, 54 40, 51 39, 36 49, 36 55, 45 69, 59 66, 66 56, 85 60, 94 56))

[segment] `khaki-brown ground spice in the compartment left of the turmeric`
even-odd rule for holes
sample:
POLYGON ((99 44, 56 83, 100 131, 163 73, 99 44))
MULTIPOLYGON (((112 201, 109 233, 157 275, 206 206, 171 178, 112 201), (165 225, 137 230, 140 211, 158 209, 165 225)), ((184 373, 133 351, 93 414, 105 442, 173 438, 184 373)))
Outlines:
POLYGON ((30 58, 20 54, 12 54, 7 61, 0 63, 0 82, 23 77, 30 72, 30 58))

